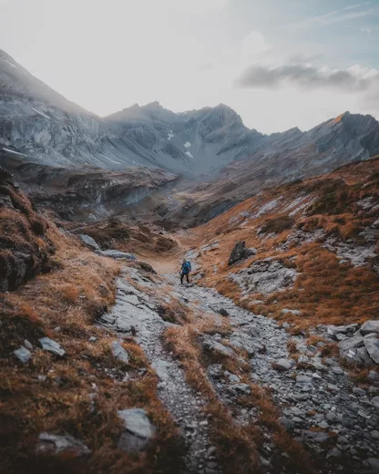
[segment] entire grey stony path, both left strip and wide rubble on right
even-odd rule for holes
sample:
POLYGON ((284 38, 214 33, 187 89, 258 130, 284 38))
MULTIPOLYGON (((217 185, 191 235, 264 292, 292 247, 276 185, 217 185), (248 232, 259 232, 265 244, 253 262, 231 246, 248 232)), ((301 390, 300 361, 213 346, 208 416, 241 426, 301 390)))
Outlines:
MULTIPOLYGON (((161 335, 171 325, 163 321, 158 312, 149 278, 136 269, 127 267, 118 280, 117 304, 102 323, 120 335, 130 334, 133 325, 138 344, 144 349, 159 382, 159 397, 174 417, 185 438, 189 472, 214 474, 221 472, 216 459, 209 459, 209 424, 201 408, 204 401, 186 382, 179 363, 167 352, 161 335), (130 280, 131 279, 131 280, 130 280)), ((165 275, 164 283, 183 304, 228 318, 232 327, 230 335, 200 335, 205 350, 219 352, 222 356, 238 359, 236 349, 243 349, 251 366, 251 381, 268 387, 280 409, 281 423, 292 437, 301 442, 315 458, 323 459, 319 472, 379 472, 379 383, 372 376, 367 389, 353 386, 351 378, 334 357, 322 357, 323 343, 307 345, 302 336, 293 337, 274 320, 233 304, 213 289, 196 284, 180 285, 178 275, 165 275), (223 314, 222 316, 220 315, 223 314), (227 344, 225 344, 227 337, 227 344), (292 340, 301 356, 298 363, 290 357, 287 344, 292 340)), ((243 361, 242 361, 243 362, 243 361)), ((245 361, 246 362, 246 361, 245 361)), ((241 382, 238 373, 232 374, 220 364, 207 367, 208 375, 220 400, 230 409, 236 423, 258 422, 257 407, 239 404, 241 395, 249 395, 251 387, 241 382)), ((260 448, 261 464, 268 472, 275 472, 273 457, 278 453, 265 430, 265 441, 260 448)))

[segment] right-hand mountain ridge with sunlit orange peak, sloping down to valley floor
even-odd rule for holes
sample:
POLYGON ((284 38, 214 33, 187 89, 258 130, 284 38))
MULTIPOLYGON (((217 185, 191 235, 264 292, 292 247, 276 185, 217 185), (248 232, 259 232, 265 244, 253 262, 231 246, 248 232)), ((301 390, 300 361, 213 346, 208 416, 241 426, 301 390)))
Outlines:
POLYGON ((379 123, 369 115, 345 112, 309 131, 275 133, 249 159, 230 163, 216 180, 182 193, 169 220, 199 225, 268 186, 321 175, 378 153, 379 123))

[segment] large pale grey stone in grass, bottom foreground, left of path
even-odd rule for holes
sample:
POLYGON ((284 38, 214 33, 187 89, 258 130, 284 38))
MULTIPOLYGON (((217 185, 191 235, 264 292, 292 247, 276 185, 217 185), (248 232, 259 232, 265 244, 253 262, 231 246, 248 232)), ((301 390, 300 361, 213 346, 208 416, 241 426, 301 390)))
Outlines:
POLYGON ((156 428, 150 422, 147 411, 143 408, 118 410, 118 417, 123 420, 126 428, 118 441, 118 448, 127 452, 146 448, 156 433, 156 428))

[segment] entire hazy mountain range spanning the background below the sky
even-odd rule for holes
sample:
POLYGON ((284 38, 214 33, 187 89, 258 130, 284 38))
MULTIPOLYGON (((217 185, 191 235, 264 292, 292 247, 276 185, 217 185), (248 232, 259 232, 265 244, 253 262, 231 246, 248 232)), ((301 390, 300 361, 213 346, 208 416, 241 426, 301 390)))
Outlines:
POLYGON ((0 149, 49 166, 124 170, 142 164, 197 180, 214 178, 232 163, 207 187, 205 202, 193 198, 197 223, 268 183, 374 156, 379 124, 370 116, 345 113, 306 132, 265 136, 247 129, 224 105, 174 113, 158 102, 98 118, 0 51, 0 149))

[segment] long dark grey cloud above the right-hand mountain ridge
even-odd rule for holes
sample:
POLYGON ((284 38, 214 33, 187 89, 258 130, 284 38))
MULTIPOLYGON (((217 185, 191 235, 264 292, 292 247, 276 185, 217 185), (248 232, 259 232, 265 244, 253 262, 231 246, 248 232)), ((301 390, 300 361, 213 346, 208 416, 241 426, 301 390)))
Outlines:
POLYGON ((294 85, 308 89, 336 89, 361 92, 379 86, 379 71, 353 66, 329 69, 305 64, 278 67, 252 65, 238 79, 242 88, 280 88, 294 85))

